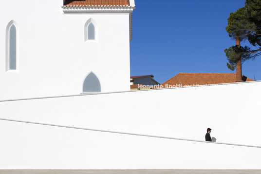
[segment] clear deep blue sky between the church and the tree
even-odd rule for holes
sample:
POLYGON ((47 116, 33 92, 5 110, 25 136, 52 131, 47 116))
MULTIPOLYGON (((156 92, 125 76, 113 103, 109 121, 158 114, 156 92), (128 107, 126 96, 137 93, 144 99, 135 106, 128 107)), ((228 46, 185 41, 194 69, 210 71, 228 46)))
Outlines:
MULTIPOLYGON (((135 0, 130 75, 154 75, 162 83, 183 73, 235 73, 224 49, 235 45, 225 27, 245 0, 135 0)), ((247 44, 243 42, 242 45, 247 44)), ((261 57, 242 65, 261 80, 261 57)))

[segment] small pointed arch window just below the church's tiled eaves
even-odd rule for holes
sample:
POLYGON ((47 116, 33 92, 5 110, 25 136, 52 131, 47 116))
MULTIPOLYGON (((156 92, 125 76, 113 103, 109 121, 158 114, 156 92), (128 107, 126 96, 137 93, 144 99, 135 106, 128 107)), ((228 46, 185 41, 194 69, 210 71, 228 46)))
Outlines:
POLYGON ((84 26, 84 40, 97 40, 97 25, 96 22, 90 18, 84 26))

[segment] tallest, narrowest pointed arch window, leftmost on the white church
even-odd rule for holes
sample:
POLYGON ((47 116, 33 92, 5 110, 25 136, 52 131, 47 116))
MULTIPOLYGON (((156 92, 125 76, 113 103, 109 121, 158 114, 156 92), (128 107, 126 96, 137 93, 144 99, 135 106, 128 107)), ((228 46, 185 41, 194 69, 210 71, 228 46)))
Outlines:
POLYGON ((17 69, 17 29, 14 21, 6 28, 6 70, 17 69))

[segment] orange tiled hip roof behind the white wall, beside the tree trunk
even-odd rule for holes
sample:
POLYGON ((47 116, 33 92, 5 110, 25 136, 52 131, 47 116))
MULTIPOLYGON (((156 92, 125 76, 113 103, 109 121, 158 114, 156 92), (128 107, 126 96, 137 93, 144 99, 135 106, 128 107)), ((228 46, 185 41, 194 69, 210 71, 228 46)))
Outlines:
MULTIPOLYGON (((242 76, 243 81, 254 81, 248 77, 242 76)), ((179 73, 176 76, 162 83, 163 87, 166 84, 176 85, 205 85, 219 83, 234 83, 236 82, 236 73, 179 73)))

